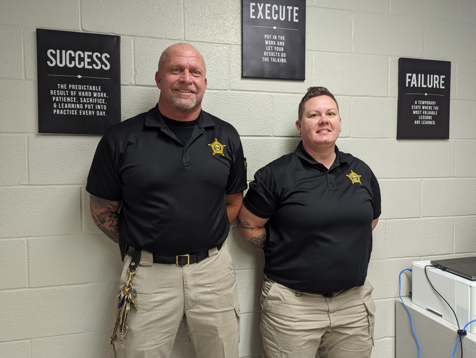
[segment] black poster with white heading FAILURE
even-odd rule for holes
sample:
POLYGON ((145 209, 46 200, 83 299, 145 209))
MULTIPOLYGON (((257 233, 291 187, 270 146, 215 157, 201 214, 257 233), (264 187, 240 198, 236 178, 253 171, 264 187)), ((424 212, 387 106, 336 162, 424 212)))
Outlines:
POLYGON ((397 139, 448 139, 451 62, 398 60, 397 139))

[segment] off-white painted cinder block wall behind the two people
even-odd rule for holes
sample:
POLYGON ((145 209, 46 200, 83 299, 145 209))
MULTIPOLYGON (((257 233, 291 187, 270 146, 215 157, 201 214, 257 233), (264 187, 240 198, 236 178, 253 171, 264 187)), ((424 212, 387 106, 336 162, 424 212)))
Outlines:
MULTIPOLYGON (((153 106, 168 45, 190 42, 207 62, 206 110, 231 122, 248 179, 294 150, 308 86, 337 94, 338 145, 379 179, 382 215, 368 277, 378 308, 372 357, 394 357, 398 273, 411 262, 476 253, 476 2, 308 0, 306 80, 240 77, 241 1, 0 2, 0 356, 110 357, 121 267, 89 217, 84 190, 95 136, 39 135, 35 29, 121 36, 122 119, 153 106), (397 141, 398 57, 449 60, 450 139, 397 141)), ((263 257, 232 228, 241 357, 258 357, 263 257)), ((409 291, 409 281, 403 291, 409 291)), ((181 328, 174 357, 192 357, 181 328)))

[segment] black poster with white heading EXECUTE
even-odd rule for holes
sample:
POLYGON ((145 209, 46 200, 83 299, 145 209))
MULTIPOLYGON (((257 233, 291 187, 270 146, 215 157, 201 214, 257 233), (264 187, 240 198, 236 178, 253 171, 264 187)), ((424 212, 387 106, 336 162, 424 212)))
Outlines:
POLYGON ((304 80, 306 1, 241 5, 241 76, 304 80))

